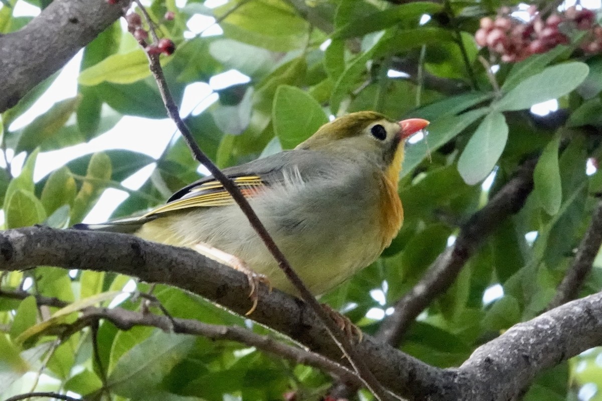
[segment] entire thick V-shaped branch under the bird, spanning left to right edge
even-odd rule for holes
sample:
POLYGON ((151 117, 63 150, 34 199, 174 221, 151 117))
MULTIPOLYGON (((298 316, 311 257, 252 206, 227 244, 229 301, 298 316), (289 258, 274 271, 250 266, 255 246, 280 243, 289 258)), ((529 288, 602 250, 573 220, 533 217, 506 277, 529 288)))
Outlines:
MULTIPOLYGON (((20 228, 0 234, 0 270, 35 265, 112 271, 172 284, 238 313, 249 308, 244 274, 185 248, 123 234, 20 228)), ((303 302, 260 289, 252 317, 314 352, 341 360, 338 347, 303 302)), ((49 300, 49 302, 55 302, 49 300)), ((163 319, 163 317, 159 316, 163 319)), ((153 317, 152 319, 155 319, 153 317)), ((161 324, 170 323, 167 317, 161 324)), ((602 344, 602 293, 569 302, 510 328, 477 349, 458 369, 436 369, 364 336, 356 350, 380 382, 412 400, 505 401, 542 369, 602 344)))

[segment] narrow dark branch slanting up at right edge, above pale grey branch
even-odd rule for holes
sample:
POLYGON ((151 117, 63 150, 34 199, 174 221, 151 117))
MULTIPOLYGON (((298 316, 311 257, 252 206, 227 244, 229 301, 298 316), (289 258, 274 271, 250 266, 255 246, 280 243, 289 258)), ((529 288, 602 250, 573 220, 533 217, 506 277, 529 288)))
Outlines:
POLYGON ((566 271, 566 275, 558 286, 556 295, 554 295, 547 310, 556 308, 577 297, 577 293, 586 275, 591 271, 598 251, 600 251, 600 245, 602 245, 602 200, 598 201, 598 206, 594 210, 592 221, 589 223, 588 230, 579 244, 573 264, 566 271))

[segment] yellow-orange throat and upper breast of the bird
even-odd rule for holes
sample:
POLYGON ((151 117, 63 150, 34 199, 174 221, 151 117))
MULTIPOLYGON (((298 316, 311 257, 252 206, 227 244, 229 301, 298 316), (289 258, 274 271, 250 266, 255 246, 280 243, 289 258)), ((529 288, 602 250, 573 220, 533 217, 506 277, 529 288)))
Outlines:
POLYGON ((399 173, 402 171, 403 143, 399 144, 393 161, 382 175, 380 187, 380 227, 382 248, 391 244, 403 223, 402 201, 397 193, 399 173))

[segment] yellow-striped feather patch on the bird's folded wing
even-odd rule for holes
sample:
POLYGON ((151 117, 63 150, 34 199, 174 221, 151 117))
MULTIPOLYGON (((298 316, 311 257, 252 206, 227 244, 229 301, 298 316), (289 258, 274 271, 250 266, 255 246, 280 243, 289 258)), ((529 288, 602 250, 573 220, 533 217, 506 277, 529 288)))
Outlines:
MULTIPOLYGON (((240 189, 245 198, 252 197, 265 187, 261 177, 258 176, 234 177, 232 182, 240 189)), ((173 212, 174 210, 188 209, 189 207, 214 207, 231 204, 234 204, 234 200, 228 191, 224 189, 219 181, 212 180, 194 186, 182 198, 157 207, 141 216, 141 218, 173 212)))

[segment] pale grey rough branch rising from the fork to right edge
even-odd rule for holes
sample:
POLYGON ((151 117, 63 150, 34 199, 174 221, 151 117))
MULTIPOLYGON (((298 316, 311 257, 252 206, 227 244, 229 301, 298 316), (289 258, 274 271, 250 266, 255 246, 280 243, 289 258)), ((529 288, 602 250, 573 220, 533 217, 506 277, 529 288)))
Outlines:
POLYGON ((597 293, 518 323, 479 347, 456 378, 461 394, 479 397, 459 399, 514 399, 537 373, 601 343, 602 293, 597 293))

